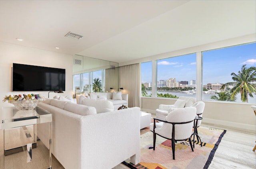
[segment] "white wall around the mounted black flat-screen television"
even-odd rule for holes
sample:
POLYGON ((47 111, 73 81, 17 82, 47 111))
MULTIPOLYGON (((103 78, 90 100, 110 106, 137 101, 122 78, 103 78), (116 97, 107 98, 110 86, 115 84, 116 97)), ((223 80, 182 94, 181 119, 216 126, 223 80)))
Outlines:
MULTIPOLYGON (((20 45, 12 45, 0 42, 0 98, 4 98, 9 94, 24 94, 25 92, 12 92, 12 63, 20 63, 26 65, 36 65, 44 67, 55 67, 66 69, 66 91, 64 93, 50 92, 50 98, 55 95, 72 96, 73 86, 73 56, 56 52, 44 51, 40 49, 24 47, 20 45)), ((31 79, 33 83, 33 79, 31 79)), ((48 92, 27 92, 40 94, 48 98, 48 92)), ((0 108, 3 106, 12 106, 8 102, 0 102, 0 108)), ((1 112, 0 110, 0 112, 1 112)))

